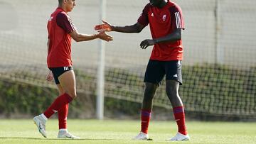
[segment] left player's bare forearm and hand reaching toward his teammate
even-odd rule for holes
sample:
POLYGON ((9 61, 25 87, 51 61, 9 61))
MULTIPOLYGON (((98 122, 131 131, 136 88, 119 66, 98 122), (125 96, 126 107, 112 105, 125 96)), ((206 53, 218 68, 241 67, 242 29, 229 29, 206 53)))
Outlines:
POLYGON ((105 33, 105 32, 87 35, 87 34, 78 33, 78 31, 73 31, 70 33, 70 35, 76 42, 94 40, 96 38, 100 38, 101 40, 105 40, 105 41, 113 40, 112 36, 107 35, 107 33, 105 33))

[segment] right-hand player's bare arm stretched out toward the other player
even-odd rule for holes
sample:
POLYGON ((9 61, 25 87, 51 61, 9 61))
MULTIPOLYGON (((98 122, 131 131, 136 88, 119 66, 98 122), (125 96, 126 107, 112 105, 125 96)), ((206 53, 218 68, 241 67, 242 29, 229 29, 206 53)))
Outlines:
POLYGON ((114 26, 107 21, 102 21, 104 24, 95 26, 97 31, 117 31, 120 33, 140 33, 145 26, 140 23, 135 23, 131 26, 114 26))

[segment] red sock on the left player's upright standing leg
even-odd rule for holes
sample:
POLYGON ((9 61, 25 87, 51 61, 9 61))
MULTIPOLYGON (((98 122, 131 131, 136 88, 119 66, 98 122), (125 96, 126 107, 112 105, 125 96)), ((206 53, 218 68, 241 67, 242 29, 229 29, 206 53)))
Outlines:
POLYGON ((68 104, 58 111, 59 129, 67 128, 68 104))

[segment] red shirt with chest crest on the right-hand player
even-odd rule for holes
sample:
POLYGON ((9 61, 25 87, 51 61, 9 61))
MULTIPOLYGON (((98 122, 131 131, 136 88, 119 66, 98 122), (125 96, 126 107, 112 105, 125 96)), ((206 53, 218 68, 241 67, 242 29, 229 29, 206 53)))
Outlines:
MULTIPOLYGON (((152 38, 161 38, 171 34, 176 28, 184 27, 184 21, 180 6, 174 2, 168 1, 166 6, 159 9, 156 6, 147 4, 138 23, 143 26, 149 24, 152 38)), ((183 46, 182 40, 166 43, 156 43, 151 52, 150 60, 182 60, 183 46)))

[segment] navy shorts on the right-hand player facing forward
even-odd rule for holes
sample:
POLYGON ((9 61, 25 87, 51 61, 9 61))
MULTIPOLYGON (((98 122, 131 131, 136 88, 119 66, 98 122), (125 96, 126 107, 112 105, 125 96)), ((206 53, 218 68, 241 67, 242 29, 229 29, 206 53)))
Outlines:
POLYGON ((149 60, 146 67, 144 82, 160 85, 161 81, 164 79, 164 75, 166 75, 166 80, 176 80, 182 84, 181 67, 181 60, 149 60))

